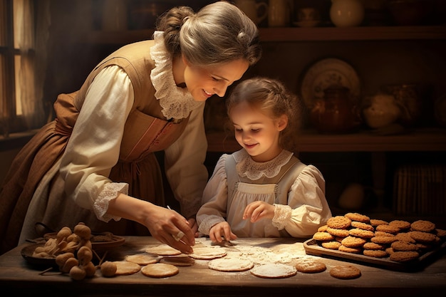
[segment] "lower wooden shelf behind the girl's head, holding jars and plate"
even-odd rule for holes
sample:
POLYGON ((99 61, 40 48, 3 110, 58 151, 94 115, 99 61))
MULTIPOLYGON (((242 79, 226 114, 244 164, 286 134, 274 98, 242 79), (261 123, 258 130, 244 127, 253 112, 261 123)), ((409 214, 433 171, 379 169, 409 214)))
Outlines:
MULTIPOLYGON (((208 132, 209 152, 234 152, 241 147, 224 132, 208 132)), ((343 135, 323 135, 313 130, 300 137, 300 152, 391 152, 391 151, 446 151, 446 130, 418 129, 400 135, 376 135, 361 131, 343 135)))

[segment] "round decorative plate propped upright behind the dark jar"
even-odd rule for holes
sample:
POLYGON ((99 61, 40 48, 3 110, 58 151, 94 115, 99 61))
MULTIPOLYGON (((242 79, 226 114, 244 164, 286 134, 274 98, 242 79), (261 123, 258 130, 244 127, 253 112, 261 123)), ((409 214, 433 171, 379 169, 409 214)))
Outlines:
POLYGON ((342 85, 350 90, 353 100, 358 100, 361 83, 355 69, 337 58, 326 58, 314 63, 304 75, 301 96, 308 108, 323 98, 323 90, 330 85, 342 85))

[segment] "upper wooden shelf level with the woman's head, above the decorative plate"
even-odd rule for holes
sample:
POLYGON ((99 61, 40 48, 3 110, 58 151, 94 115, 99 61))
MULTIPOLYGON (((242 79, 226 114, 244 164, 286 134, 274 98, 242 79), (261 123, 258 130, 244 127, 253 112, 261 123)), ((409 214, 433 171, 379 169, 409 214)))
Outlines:
MULTIPOLYGON (((79 37, 80 43, 126 44, 152 38, 153 30, 88 31, 79 37)), ((388 27, 316 27, 260 28, 263 42, 281 41, 370 41, 370 40, 444 40, 446 26, 388 27)))

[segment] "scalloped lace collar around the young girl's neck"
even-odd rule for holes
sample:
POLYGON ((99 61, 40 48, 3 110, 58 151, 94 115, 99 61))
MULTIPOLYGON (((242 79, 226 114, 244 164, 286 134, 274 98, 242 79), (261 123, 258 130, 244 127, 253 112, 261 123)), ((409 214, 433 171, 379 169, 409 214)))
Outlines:
POLYGON ((252 160, 246 150, 234 152, 234 158, 237 162, 237 173, 241 177, 248 177, 251 180, 256 180, 263 176, 268 178, 275 177, 292 156, 292 152, 282 150, 273 160, 260 163, 252 160))

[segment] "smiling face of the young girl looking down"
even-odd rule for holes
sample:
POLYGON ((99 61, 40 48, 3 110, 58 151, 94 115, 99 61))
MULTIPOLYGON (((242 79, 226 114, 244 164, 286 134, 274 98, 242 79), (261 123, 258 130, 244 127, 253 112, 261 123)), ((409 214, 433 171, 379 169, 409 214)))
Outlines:
POLYGON ((259 108, 240 103, 232 108, 229 117, 234 124, 235 139, 252 160, 266 162, 281 152, 279 134, 288 124, 286 115, 272 119, 259 108))

